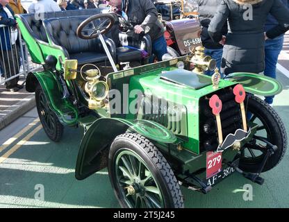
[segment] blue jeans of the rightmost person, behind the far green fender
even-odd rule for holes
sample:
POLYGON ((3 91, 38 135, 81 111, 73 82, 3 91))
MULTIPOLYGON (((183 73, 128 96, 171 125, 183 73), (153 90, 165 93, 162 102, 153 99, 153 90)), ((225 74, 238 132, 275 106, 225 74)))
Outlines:
MULTIPOLYGON (((276 65, 278 56, 283 48, 284 37, 265 42, 265 70, 264 75, 276 78, 276 65)), ((273 103, 274 96, 267 96, 265 101, 268 104, 273 103)))

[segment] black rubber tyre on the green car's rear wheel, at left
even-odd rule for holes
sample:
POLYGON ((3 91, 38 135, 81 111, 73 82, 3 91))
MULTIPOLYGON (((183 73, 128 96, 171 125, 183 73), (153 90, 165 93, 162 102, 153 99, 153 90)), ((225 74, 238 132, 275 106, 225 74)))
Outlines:
POLYGON ((51 139, 53 142, 59 142, 60 139, 63 136, 63 125, 58 120, 58 117, 56 116, 55 112, 53 112, 47 103, 47 96, 44 94, 43 89, 40 84, 35 89, 35 101, 36 101, 36 108, 38 111, 38 116, 40 119, 40 122, 44 128, 45 133, 51 139), (49 126, 47 125, 47 121, 45 121, 44 116, 42 114, 42 105, 40 103, 40 96, 44 96, 44 100, 46 100, 46 112, 49 112, 51 121, 53 121, 54 128, 53 130, 49 129, 49 126))

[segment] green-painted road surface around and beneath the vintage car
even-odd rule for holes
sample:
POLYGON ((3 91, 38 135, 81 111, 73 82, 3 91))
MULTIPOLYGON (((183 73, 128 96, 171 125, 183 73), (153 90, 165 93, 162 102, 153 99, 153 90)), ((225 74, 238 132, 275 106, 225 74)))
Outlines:
MULTIPOLYGON (((279 74, 279 80, 284 90, 274 108, 288 130, 289 78, 279 74)), ((0 152, 0 207, 119 207, 106 169, 83 181, 74 178, 81 130, 65 128, 62 141, 53 143, 42 128, 35 133, 39 122, 28 125, 35 118, 34 109, 0 131, 0 144, 6 142, 0 148, 4 147, 0 152), (13 139, 26 126, 30 129, 13 139), (35 199, 42 186, 44 200, 35 199)), ((275 169, 263 173, 263 186, 235 173, 206 195, 182 187, 185 207, 289 207, 288 166, 287 153, 275 169), (252 185, 253 196, 245 201, 243 187, 247 184, 252 185)))

